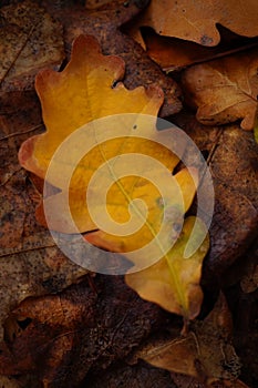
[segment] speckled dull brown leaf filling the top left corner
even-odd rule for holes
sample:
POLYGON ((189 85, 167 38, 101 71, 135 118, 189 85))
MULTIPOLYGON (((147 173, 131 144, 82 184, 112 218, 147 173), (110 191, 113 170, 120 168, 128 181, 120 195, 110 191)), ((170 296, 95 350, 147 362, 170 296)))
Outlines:
POLYGON ((30 0, 1 8, 0 19, 1 90, 31 90, 39 70, 64 59, 62 25, 30 0))

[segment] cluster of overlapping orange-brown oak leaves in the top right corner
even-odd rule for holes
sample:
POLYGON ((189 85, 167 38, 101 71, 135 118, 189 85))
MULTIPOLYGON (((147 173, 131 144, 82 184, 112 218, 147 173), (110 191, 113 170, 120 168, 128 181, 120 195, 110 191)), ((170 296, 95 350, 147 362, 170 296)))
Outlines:
POLYGON ((183 73, 184 94, 188 104, 197 108, 197 120, 206 125, 220 125, 241 119, 241 127, 252 130, 258 83, 257 17, 252 0, 245 6, 230 1, 225 4, 220 0, 208 6, 202 0, 193 4, 153 0, 137 23, 133 23, 130 34, 166 71, 209 61, 183 73), (152 27, 156 33, 147 30, 143 40, 140 27, 152 27), (254 39, 248 41, 237 34, 254 39))

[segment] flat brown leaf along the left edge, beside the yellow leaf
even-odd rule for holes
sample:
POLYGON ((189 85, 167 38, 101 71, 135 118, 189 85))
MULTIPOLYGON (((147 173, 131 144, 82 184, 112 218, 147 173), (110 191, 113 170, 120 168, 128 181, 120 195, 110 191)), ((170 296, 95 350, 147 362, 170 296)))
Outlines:
POLYGON ((1 98, 0 113, 0 340, 10 310, 28 296, 60 292, 85 275, 55 246, 34 217, 41 196, 21 169, 21 142, 42 131, 34 93, 12 92, 1 98))

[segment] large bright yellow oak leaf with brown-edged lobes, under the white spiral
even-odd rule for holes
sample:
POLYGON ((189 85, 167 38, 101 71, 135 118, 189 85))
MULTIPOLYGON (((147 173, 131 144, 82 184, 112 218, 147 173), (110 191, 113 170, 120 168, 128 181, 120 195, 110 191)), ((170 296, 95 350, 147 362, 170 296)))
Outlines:
POLYGON ((198 282, 208 243, 193 246, 185 258, 187 244, 195 245, 206 229, 195 217, 183 224, 198 172, 188 167, 172 174, 186 143, 182 133, 155 126, 163 92, 155 86, 128 91, 117 83, 123 74, 120 58, 102 55, 94 38, 79 37, 64 71, 45 70, 37 78, 47 132, 27 140, 19 160, 58 188, 44 192, 38 219, 43 223, 44 211, 50 229, 91 232, 87 242, 125 254, 134 270, 161 262, 159 287, 169 290, 159 290, 157 300, 152 290, 143 297, 193 318, 202 304, 198 282))

